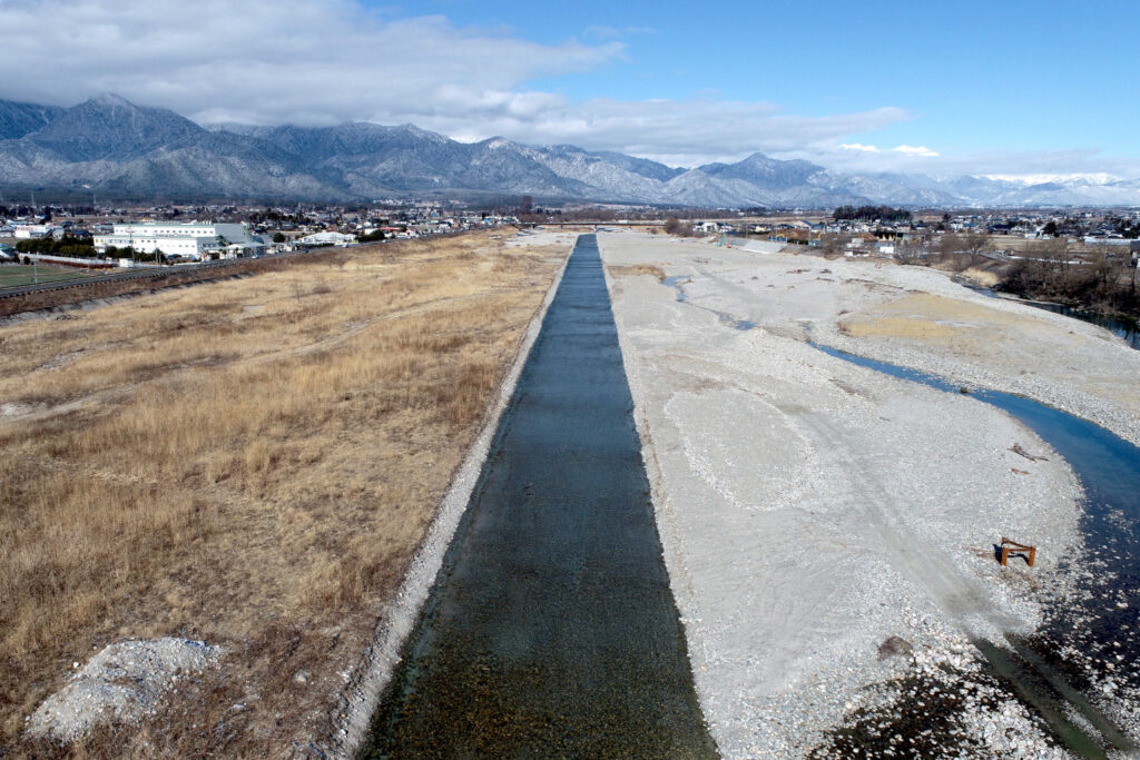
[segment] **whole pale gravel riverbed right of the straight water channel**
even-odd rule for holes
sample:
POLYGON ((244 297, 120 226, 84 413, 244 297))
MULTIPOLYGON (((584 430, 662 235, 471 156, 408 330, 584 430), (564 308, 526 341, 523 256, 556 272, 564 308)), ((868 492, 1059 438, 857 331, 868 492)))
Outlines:
MULTIPOLYGON (((722 753, 1067 757, 972 641, 1031 636, 1076 598, 1096 547, 1068 463, 971 392, 812 343, 1039 399, 1134 442, 1140 352, 926 268, 635 232, 600 244, 722 753), (1036 565, 999 565, 1002 536, 1035 545, 1036 565)), ((1134 734, 1137 692, 1114 689, 1137 668, 1114 667, 1092 689, 1134 734)))

